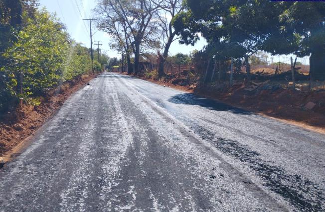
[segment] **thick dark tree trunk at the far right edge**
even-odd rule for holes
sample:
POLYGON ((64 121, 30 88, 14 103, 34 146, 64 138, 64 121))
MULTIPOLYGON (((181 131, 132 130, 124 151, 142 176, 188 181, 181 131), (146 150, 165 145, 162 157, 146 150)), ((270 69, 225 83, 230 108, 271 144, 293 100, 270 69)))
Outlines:
POLYGON ((313 52, 309 58, 310 75, 313 80, 325 79, 325 51, 313 52))

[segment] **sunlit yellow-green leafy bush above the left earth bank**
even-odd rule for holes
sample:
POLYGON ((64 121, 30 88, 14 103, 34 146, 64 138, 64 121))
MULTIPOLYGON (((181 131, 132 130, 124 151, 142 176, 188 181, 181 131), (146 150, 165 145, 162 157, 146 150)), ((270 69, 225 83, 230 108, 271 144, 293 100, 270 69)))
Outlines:
MULTIPOLYGON (((22 19, 22 29, 16 30, 15 41, 0 57, 0 110, 91 71, 88 49, 72 41, 54 15, 42 9, 32 18, 24 12, 22 19)), ((101 71, 98 62, 94 65, 101 71)))

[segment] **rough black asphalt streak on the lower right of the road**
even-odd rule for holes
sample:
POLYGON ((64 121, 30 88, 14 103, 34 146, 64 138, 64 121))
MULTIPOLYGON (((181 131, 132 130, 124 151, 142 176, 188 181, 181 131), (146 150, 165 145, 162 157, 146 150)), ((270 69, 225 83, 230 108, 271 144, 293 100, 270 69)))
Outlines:
POLYGON ((249 163, 249 167, 256 171, 271 191, 282 196, 286 201, 300 211, 323 211, 325 202, 323 190, 309 179, 303 179, 298 174, 289 174, 278 165, 270 164, 258 156, 258 152, 239 141, 216 137, 215 133, 200 126, 193 126, 194 133, 213 144, 218 150, 236 160, 249 163))

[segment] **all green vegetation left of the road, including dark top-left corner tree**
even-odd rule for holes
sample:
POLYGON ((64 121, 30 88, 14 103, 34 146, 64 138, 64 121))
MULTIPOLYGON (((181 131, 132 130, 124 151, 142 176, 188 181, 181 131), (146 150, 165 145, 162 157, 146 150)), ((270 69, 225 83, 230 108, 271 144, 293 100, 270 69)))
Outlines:
MULTIPOLYGON (((38 105, 53 88, 92 74, 90 50, 36 0, 0 0, 0 8, 0 111, 38 105)), ((94 71, 107 61, 102 55, 94 71)))

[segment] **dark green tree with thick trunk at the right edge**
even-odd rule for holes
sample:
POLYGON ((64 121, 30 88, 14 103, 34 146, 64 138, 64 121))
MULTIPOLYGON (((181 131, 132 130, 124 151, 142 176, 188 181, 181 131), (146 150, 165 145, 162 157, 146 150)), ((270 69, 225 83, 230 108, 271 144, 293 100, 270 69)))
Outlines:
POLYGON ((310 55, 310 73, 325 79, 325 2, 295 1, 281 16, 285 29, 299 39, 295 54, 310 55))

